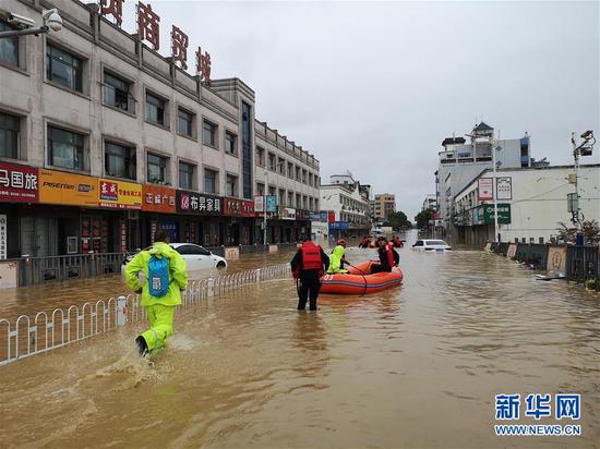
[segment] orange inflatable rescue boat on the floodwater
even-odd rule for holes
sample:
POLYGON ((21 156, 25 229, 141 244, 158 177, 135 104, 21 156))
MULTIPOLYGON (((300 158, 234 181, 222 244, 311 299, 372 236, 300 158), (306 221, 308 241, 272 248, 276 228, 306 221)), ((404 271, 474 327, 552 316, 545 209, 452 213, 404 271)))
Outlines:
POLYGON ((403 283, 404 275, 399 267, 392 268, 391 272, 371 274, 371 265, 377 263, 369 260, 357 265, 356 268, 348 267, 347 275, 324 275, 321 278, 321 293, 367 294, 403 283))

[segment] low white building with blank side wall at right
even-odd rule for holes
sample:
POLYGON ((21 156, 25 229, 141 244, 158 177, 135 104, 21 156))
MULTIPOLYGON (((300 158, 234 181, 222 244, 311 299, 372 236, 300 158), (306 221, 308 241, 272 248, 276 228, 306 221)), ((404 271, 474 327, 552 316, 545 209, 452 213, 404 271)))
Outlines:
MULTIPOLYGON (((492 178, 483 170, 454 197, 454 227, 458 243, 482 245, 494 240, 494 202, 490 192, 480 192, 480 179, 492 178), (487 198, 487 199, 482 199, 487 198)), ((503 242, 552 242, 559 222, 572 227, 567 195, 575 193, 573 166, 499 169, 499 234, 503 242)), ((600 221, 598 180, 600 165, 579 168, 579 207, 586 220, 600 221)))

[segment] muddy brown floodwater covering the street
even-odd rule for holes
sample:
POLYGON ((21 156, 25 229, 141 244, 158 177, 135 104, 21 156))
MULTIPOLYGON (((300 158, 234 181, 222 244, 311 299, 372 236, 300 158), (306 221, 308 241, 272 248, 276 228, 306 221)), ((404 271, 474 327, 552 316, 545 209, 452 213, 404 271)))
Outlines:
MULTIPOLYGON (((316 314, 295 310, 291 280, 208 300, 179 313, 154 365, 125 328, 0 367, 0 446, 600 447, 598 294, 481 252, 400 257, 401 288, 322 296, 316 314), (580 393, 583 435, 496 437, 494 395, 530 392, 580 393)), ((103 281, 105 294, 81 282, 63 296, 123 291, 103 281)), ((2 307, 37 312, 34 296, 2 307)))

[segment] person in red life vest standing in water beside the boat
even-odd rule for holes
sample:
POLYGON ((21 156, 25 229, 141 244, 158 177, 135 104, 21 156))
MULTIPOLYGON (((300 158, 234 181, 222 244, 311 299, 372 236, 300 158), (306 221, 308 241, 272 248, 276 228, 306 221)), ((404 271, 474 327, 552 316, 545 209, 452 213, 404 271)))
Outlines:
POLYGON ((298 310, 307 308, 307 301, 310 300, 309 308, 316 311, 316 299, 321 289, 321 276, 329 268, 329 258, 319 245, 311 242, 310 236, 302 239, 302 246, 291 259, 291 271, 295 279, 298 279, 298 310))

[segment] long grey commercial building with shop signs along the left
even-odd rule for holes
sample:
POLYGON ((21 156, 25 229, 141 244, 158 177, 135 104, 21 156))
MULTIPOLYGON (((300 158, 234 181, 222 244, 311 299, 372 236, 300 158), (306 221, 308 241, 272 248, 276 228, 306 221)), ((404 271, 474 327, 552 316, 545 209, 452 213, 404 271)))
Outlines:
MULTIPOLYGON (((43 3, 59 8, 62 31, 0 46, 5 256, 121 252, 157 228, 180 242, 260 243, 265 169, 279 199, 267 240, 307 231, 319 160, 256 120, 249 86, 190 75, 97 4, 43 3)), ((9 12, 41 22, 38 0, 5 0, 0 31, 9 12)))

